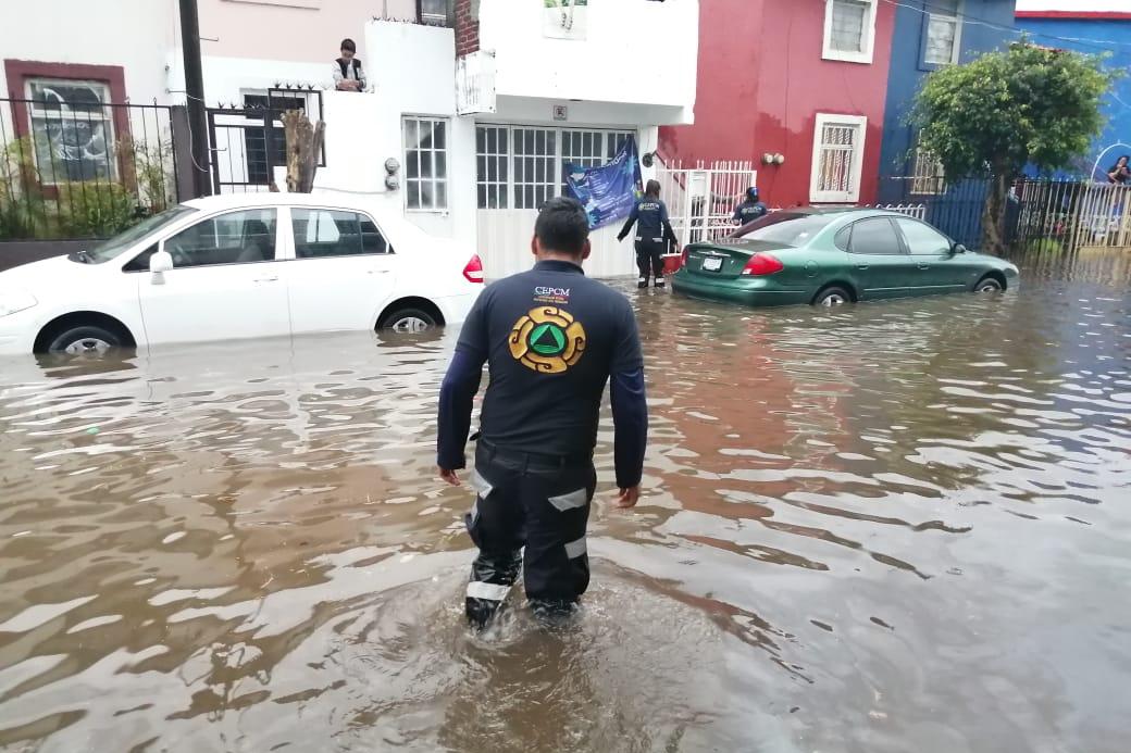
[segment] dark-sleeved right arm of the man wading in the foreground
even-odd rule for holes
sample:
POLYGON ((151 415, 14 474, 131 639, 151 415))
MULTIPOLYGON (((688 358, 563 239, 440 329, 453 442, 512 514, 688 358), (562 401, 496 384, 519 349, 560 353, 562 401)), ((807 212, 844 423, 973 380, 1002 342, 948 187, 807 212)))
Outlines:
POLYGON ((625 302, 618 357, 611 369, 613 403, 613 459, 620 507, 631 508, 640 495, 644 455, 648 444, 648 400, 644 382, 644 356, 636 314, 625 302))

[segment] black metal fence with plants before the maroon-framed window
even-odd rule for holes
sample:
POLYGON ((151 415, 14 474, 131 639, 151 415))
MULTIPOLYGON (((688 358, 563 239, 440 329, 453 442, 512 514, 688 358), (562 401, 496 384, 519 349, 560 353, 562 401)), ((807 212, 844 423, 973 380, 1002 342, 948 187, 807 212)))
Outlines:
POLYGON ((0 98, 0 241, 107 237, 182 196, 183 111, 0 98))

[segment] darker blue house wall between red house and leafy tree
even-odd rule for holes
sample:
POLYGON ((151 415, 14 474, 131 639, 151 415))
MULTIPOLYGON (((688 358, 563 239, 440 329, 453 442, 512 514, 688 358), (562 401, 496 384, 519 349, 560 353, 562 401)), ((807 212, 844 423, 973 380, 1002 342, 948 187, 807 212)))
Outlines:
MULTIPOLYGON (((901 0, 901 5, 896 7, 883 144, 880 148, 879 200, 883 204, 906 201, 908 198, 909 181, 892 178, 914 172, 914 156, 908 153, 915 145, 915 132, 906 121, 923 77, 934 68, 923 62, 925 7, 931 5, 931 0, 901 0)), ((1012 31, 1015 6, 1016 0, 964 0, 960 12, 966 20, 959 38, 959 62, 1000 49, 1017 37, 1012 31)))

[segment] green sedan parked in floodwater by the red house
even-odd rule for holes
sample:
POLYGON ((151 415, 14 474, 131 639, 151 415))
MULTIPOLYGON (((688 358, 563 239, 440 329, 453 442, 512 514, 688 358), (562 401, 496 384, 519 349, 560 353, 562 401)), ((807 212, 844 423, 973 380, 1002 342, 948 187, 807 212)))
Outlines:
POLYGON ((757 306, 992 292, 1017 267, 972 253, 931 225, 878 209, 785 209, 717 241, 692 243, 676 293, 757 306))

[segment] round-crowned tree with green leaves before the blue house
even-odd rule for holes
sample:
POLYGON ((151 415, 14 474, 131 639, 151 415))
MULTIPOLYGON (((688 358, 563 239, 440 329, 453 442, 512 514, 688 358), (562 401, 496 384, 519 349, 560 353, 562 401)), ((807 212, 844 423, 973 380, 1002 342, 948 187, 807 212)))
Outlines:
POLYGON ((912 112, 921 148, 939 158, 947 180, 991 180, 984 250, 1004 249, 1009 189, 1027 164, 1057 170, 1087 152, 1104 124, 1100 98, 1117 75, 1100 55, 1022 38, 926 77, 912 112))

